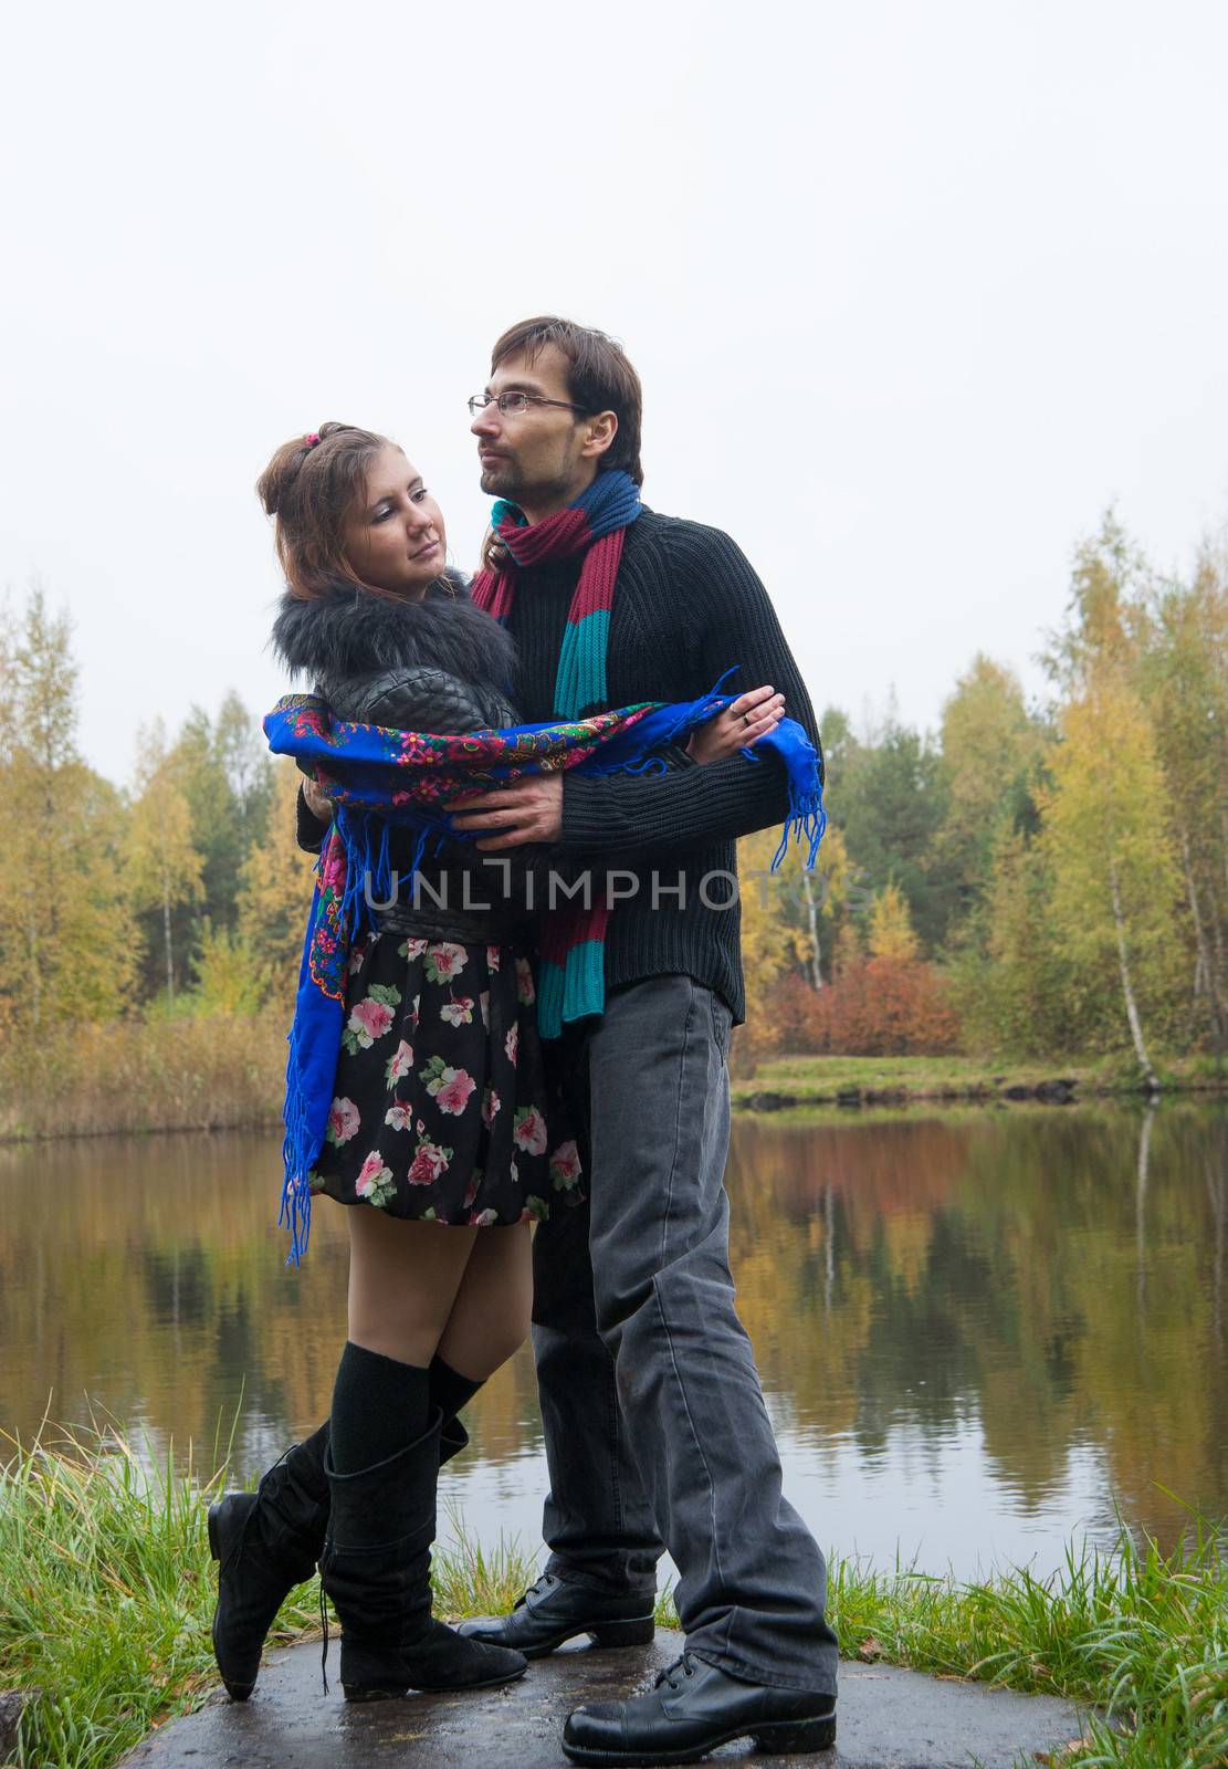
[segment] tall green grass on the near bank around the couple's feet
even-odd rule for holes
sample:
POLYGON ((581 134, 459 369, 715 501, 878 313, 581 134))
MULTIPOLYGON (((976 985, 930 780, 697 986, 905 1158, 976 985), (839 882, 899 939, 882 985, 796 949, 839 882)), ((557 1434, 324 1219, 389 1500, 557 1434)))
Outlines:
MULTIPOLYGON (((42 1691, 23 1721, 28 1769, 106 1769, 214 1684, 205 1505, 219 1484, 170 1461, 150 1477, 122 1440, 39 1445, 0 1472, 0 1688, 42 1691)), ((506 1610, 533 1573, 518 1543, 483 1548, 453 1518, 435 1551, 437 1610, 506 1610)), ((1228 1564, 1196 1521, 1171 1555, 1122 1530, 1117 1553, 1071 1551, 1048 1580, 959 1583, 837 1560, 830 1606, 848 1656, 1104 1707, 1115 1725, 1092 1721, 1067 1764, 1228 1760, 1228 1564)), ((669 1596, 658 1619, 676 1626, 669 1596)), ((278 1636, 317 1620, 303 1585, 278 1636)))

